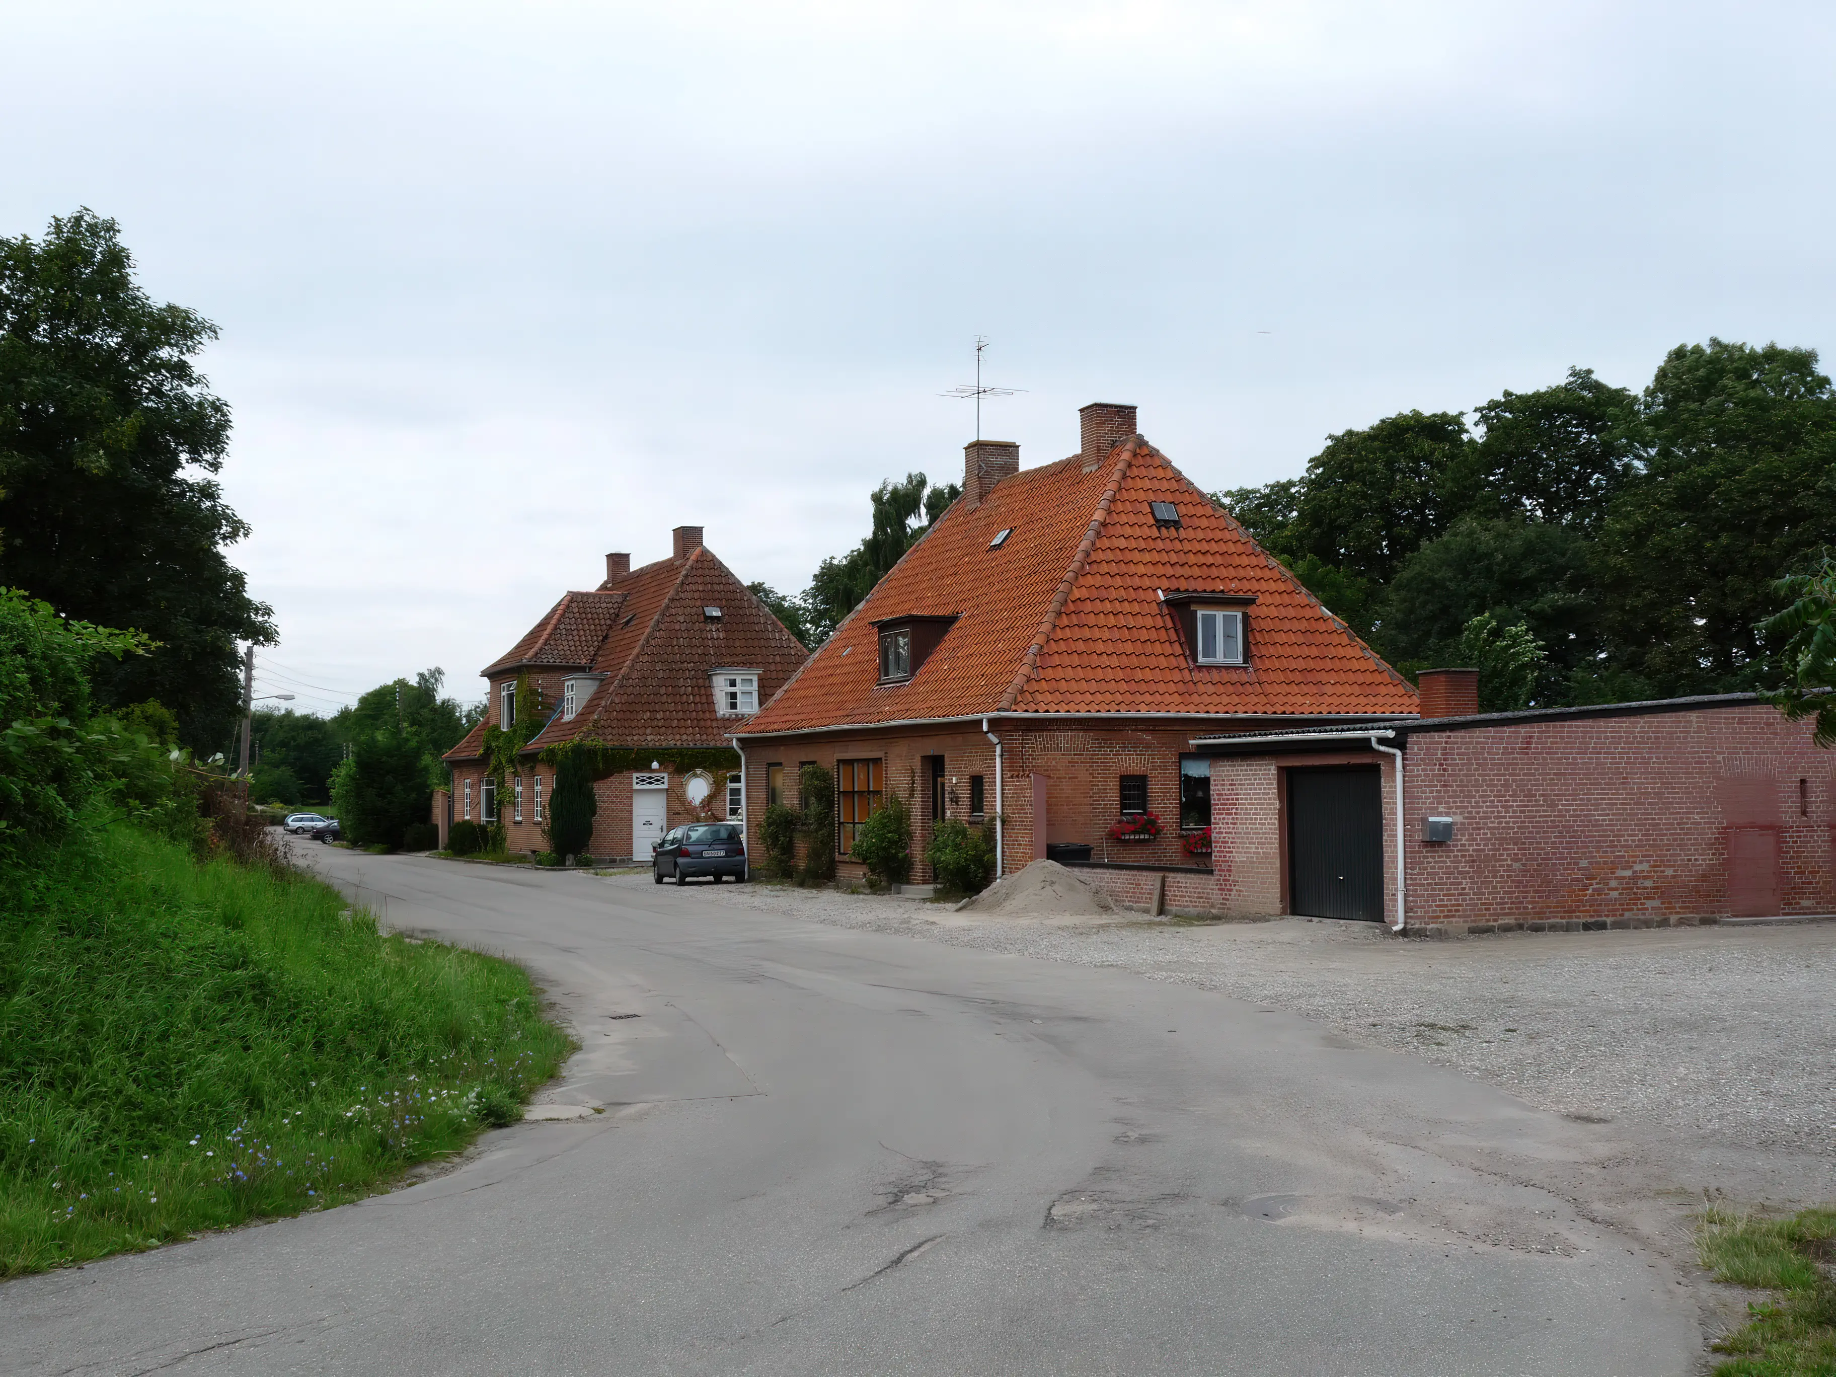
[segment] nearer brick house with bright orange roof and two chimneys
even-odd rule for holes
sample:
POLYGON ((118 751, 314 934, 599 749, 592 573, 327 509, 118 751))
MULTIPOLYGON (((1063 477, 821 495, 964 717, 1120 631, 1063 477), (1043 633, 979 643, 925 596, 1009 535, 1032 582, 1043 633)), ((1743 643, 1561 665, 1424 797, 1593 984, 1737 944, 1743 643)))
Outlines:
POLYGON ((843 878, 896 791, 914 881, 938 819, 986 819, 1002 872, 1050 850, 1125 898, 1215 909, 1208 828, 1232 799, 1195 736, 1416 716, 1416 690, 1135 433, 1133 406, 1080 420, 1080 452, 1039 468, 969 444, 962 498, 734 733, 753 854, 766 804, 819 762, 843 878))

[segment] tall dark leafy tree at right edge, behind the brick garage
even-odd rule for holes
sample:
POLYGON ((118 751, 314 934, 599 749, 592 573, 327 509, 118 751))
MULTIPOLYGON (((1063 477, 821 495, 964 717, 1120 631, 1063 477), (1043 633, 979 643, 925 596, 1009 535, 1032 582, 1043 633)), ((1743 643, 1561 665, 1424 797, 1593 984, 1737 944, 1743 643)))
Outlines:
POLYGON ((1678 347, 1601 529, 1608 665, 1660 694, 1764 676, 1779 569, 1836 543, 1836 395, 1812 349, 1678 347))

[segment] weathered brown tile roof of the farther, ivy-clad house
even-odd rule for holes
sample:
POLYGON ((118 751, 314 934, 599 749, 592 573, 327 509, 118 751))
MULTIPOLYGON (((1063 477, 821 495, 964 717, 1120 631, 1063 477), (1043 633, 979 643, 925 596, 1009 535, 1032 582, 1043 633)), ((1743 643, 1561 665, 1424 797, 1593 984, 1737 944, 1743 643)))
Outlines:
MULTIPOLYGON (((661 749, 727 745, 727 734, 744 725, 744 718, 716 712, 712 670, 755 670, 764 700, 804 659, 804 648, 745 584, 712 551, 696 547, 591 593, 564 595, 485 676, 496 681, 523 668, 602 676, 573 722, 556 714, 529 751, 577 736, 661 749), (705 617, 711 606, 720 608, 718 621, 705 617)), ((474 727, 446 760, 476 760, 494 720, 474 727)))

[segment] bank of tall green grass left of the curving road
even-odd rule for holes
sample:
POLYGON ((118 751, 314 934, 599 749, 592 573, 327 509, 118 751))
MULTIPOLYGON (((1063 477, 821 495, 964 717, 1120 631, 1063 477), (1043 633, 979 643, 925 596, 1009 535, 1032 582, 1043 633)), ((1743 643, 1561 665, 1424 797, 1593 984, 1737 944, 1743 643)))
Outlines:
POLYGON ((521 1114, 516 966, 114 826, 0 911, 0 1276, 323 1208, 521 1114))

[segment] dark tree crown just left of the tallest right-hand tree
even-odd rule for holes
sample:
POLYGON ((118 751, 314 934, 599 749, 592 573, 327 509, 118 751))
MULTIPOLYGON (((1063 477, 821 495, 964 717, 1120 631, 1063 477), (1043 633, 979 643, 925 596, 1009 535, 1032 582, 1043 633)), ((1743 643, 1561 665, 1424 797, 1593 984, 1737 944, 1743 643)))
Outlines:
POLYGON ((1480 441, 1460 488, 1472 510, 1594 529, 1638 466, 1638 398, 1592 369, 1476 411, 1480 441))

